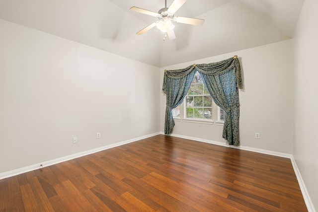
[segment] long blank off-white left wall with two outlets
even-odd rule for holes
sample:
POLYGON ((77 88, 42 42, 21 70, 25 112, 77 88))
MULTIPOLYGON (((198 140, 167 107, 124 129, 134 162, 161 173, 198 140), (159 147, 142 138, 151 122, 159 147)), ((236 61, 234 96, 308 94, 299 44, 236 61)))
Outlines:
POLYGON ((0 173, 159 132, 159 68, 1 19, 0 29, 0 173))

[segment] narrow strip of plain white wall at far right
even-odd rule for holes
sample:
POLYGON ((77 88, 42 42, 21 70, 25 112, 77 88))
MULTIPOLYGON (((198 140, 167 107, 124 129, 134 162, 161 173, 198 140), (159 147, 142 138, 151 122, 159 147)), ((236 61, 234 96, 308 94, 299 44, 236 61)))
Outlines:
POLYGON ((318 211, 318 1, 305 0, 293 39, 293 156, 318 211))

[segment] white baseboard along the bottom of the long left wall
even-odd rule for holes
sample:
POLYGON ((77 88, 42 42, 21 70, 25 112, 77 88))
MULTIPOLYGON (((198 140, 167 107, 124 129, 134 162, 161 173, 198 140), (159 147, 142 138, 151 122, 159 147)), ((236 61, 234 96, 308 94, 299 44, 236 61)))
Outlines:
POLYGON ((29 172, 29 171, 33 171, 33 170, 36 170, 36 169, 40 169, 42 167, 51 166, 51 165, 54 165, 54 164, 57 164, 57 163, 61 163, 61 162, 67 161, 67 160, 71 160, 71 159, 74 159, 74 158, 85 156, 87 154, 92 154, 92 153, 95 153, 95 152, 98 152, 98 151, 102 151, 102 150, 105 150, 105 149, 109 149, 109 148, 113 148, 113 147, 116 147, 116 146, 124 145, 124 144, 131 143, 131 142, 134 142, 134 141, 147 139, 149 137, 157 136, 159 134, 160 134, 160 132, 153 133, 153 134, 149 134, 149 135, 146 135, 146 136, 130 139, 130 140, 127 140, 127 141, 121 141, 121 142, 109 144, 109 145, 106 145, 106 146, 101 146, 101 147, 98 147, 98 148, 90 149, 90 150, 87 150, 87 151, 79 152, 79 153, 76 153, 76 154, 68 155, 68 156, 65 156, 65 157, 60 157, 60 158, 57 158, 57 159, 49 160, 49 161, 46 161, 46 162, 43 162, 43 163, 37 163, 37 164, 34 164, 34 165, 26 166, 26 167, 23 167, 23 168, 12 170, 12 171, 3 172, 3 173, 0 173, 0 180, 4 179, 4 178, 15 176, 15 175, 18 175, 18 174, 23 174, 23 173, 26 173, 26 172, 29 172))

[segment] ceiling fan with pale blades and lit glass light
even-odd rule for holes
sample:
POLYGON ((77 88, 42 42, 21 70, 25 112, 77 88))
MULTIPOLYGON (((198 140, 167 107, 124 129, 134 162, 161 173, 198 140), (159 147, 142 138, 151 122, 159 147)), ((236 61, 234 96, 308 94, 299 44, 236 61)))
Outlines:
POLYGON ((188 18, 188 17, 180 17, 180 16, 174 16, 174 13, 186 2, 187 0, 174 0, 172 4, 167 8, 167 0, 165 0, 164 8, 160 9, 157 12, 153 12, 147 9, 142 9, 136 6, 133 6, 130 8, 130 10, 135 12, 144 13, 147 15, 155 16, 159 20, 150 24, 149 26, 145 27, 144 29, 137 32, 137 35, 141 35, 148 30, 152 29, 153 27, 157 26, 157 28, 164 32, 163 40, 165 39, 166 35, 168 34, 168 37, 170 40, 175 39, 175 34, 173 31, 173 28, 175 27, 173 25, 173 22, 177 23, 186 23, 186 24, 192 24, 192 25, 202 25, 204 23, 204 19, 199 18, 188 18))

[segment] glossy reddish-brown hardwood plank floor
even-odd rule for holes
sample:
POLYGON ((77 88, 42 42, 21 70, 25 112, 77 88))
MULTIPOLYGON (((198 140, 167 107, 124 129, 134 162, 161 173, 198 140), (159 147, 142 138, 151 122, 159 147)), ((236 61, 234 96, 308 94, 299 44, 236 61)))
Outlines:
POLYGON ((0 212, 303 212, 290 159, 159 135, 0 180, 0 212))

